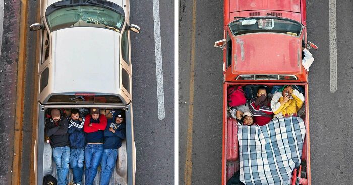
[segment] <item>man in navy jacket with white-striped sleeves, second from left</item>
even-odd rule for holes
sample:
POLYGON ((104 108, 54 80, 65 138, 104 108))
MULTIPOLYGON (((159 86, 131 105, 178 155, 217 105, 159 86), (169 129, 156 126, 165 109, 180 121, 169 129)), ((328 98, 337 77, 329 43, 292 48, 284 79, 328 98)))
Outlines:
POLYGON ((80 116, 78 109, 71 110, 69 119, 69 139, 70 139, 70 168, 72 169, 74 184, 82 185, 85 133, 83 125, 85 118, 80 116))

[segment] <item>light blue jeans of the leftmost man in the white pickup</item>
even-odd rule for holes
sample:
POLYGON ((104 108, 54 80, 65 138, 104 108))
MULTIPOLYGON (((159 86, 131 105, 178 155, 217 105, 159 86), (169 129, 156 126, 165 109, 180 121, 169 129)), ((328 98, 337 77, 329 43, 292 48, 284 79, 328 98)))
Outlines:
POLYGON ((70 147, 55 147, 52 149, 52 153, 56 163, 57 184, 66 185, 68 183, 66 176, 69 172, 70 147))

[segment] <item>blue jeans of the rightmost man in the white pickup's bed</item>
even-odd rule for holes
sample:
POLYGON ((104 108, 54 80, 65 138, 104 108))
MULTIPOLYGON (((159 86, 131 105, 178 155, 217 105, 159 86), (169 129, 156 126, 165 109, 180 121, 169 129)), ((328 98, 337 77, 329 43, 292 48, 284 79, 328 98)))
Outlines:
POLYGON ((117 159, 117 149, 104 149, 102 161, 100 166, 102 170, 100 172, 100 185, 108 185, 111 174, 114 171, 114 167, 117 159))

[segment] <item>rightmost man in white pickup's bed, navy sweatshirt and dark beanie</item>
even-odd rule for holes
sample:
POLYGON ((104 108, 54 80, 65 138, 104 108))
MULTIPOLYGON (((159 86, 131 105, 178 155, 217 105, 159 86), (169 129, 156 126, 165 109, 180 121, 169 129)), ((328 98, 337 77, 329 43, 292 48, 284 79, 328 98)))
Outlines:
POLYGON ((116 110, 113 119, 108 120, 104 130, 104 151, 100 162, 102 167, 100 172, 100 185, 109 184, 109 179, 114 171, 117 159, 117 149, 122 146, 122 141, 126 138, 125 111, 116 110))

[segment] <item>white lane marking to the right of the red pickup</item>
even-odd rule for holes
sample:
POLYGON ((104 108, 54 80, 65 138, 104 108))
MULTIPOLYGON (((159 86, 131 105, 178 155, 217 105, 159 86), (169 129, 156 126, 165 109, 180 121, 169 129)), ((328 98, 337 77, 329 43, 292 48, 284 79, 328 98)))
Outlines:
POLYGON ((336 0, 329 2, 329 33, 330 33, 330 91, 337 90, 337 24, 336 0))

